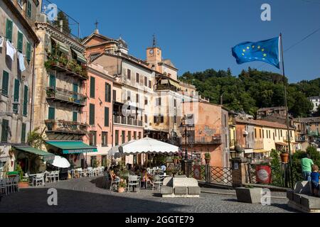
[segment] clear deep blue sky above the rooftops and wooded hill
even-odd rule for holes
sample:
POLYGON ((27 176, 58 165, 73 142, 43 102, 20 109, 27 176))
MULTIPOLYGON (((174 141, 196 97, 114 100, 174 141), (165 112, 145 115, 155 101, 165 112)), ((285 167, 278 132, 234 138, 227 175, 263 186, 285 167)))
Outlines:
MULTIPOLYGON (((242 69, 280 72, 263 62, 237 65, 231 48, 283 34, 284 49, 320 28, 320 0, 51 0, 80 23, 80 34, 99 31, 111 38, 122 36, 129 53, 145 59, 155 33, 164 58, 179 74, 213 68, 234 75, 242 69), (272 21, 261 21, 260 6, 271 5, 272 21)), ((315 79, 320 74, 320 31, 284 52, 290 82, 315 79)))

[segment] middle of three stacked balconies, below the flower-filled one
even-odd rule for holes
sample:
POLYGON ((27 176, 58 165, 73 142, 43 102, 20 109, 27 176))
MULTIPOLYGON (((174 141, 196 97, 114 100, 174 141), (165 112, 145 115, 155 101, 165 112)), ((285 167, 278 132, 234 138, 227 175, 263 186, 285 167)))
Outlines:
POLYGON ((75 106, 85 106, 87 98, 82 94, 70 92, 65 89, 47 87, 47 99, 60 101, 75 106))

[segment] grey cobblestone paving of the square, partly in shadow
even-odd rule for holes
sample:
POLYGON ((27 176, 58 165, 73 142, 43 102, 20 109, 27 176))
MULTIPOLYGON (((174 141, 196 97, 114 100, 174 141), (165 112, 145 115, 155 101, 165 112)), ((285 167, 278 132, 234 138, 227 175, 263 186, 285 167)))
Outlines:
POLYGON ((70 179, 46 187, 21 189, 4 196, 0 212, 108 212, 108 213, 287 213, 287 199, 272 199, 271 206, 238 203, 235 195, 201 193, 199 199, 165 199, 159 191, 119 194, 102 189, 101 178, 70 179), (48 206, 48 188, 58 190, 58 206, 48 206))

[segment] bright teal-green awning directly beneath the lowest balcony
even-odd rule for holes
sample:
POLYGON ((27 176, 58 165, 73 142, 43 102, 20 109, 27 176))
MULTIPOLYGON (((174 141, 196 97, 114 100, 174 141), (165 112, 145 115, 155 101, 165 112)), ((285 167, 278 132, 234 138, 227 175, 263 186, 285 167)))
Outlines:
POLYGON ((65 155, 97 152, 96 147, 87 145, 82 141, 46 141, 46 143, 59 148, 65 155))

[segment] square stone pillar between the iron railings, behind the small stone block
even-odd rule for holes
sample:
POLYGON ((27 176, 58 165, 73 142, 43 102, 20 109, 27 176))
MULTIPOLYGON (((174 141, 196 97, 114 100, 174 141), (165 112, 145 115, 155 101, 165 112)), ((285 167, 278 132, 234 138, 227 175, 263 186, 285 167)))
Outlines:
POLYGON ((245 184, 247 159, 238 157, 230 160, 232 163, 233 187, 242 187, 245 184))

